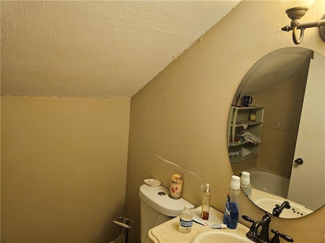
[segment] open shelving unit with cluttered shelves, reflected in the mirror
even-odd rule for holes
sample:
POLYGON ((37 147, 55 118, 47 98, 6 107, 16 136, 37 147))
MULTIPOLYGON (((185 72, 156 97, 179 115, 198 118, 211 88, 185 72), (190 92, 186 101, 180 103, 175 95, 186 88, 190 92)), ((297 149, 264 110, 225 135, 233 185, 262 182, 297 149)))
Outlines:
POLYGON ((263 106, 231 107, 227 133, 231 164, 257 156, 263 113, 263 106))

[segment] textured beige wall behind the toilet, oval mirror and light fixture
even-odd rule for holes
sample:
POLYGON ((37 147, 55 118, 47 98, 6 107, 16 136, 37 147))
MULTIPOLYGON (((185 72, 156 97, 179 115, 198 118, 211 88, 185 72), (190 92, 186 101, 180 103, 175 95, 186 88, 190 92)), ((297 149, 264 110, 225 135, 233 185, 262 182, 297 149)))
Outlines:
MULTIPOLYGON (((320 18, 324 4, 317 1, 303 20, 320 18)), ((287 23, 279 1, 244 1, 132 97, 126 213, 137 224, 130 231, 131 242, 139 242, 138 191, 147 178, 169 188, 171 175, 183 173, 182 195, 195 206, 202 185, 209 182, 211 205, 223 212, 232 175, 226 142, 231 102, 242 78, 259 59, 296 46, 291 32, 280 30, 287 23)), ((325 43, 316 28, 305 31, 300 47, 325 56, 325 43)), ((263 216, 244 195, 239 210, 254 220, 263 216)), ((300 219, 273 218, 270 229, 290 235, 295 242, 323 242, 324 212, 322 207, 300 219)))

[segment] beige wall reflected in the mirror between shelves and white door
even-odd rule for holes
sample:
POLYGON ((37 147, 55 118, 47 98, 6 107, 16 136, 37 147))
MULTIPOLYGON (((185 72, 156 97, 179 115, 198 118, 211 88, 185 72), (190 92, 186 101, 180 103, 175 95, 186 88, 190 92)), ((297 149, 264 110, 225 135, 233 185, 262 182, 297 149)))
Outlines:
POLYGON ((257 167, 290 178, 307 75, 262 94, 254 102, 264 109, 257 167))

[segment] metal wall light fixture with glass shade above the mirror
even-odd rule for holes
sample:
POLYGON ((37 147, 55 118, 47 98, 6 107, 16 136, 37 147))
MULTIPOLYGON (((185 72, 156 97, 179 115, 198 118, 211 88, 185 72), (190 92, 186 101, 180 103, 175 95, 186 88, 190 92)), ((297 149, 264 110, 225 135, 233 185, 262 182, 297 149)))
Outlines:
POLYGON ((304 38, 304 31, 306 28, 318 27, 319 36, 325 42, 325 15, 322 19, 313 22, 300 23, 300 19, 306 14, 310 6, 315 0, 281 0, 281 6, 285 9, 285 13, 291 19, 291 23, 282 27, 284 31, 293 31, 293 40, 295 44, 300 44, 304 38), (298 29, 300 29, 300 36, 298 37, 298 29))

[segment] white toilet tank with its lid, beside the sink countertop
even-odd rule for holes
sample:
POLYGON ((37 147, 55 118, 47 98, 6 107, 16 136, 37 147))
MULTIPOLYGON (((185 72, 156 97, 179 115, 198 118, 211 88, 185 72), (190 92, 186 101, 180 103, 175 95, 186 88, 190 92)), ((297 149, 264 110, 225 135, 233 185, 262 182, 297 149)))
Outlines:
POLYGON ((140 186, 139 196, 141 198, 141 242, 151 242, 148 231, 174 217, 180 215, 185 204, 194 209, 184 198, 172 199, 168 196, 169 190, 163 186, 150 187, 146 184, 140 186))

